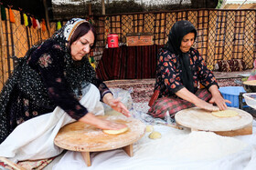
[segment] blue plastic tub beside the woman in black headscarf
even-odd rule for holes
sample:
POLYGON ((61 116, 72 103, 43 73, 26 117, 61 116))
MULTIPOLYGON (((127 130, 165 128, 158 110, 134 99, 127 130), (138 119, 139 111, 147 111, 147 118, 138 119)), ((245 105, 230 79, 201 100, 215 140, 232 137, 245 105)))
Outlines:
POLYGON ((219 92, 223 95, 223 98, 232 102, 231 104, 226 103, 230 107, 240 106, 240 93, 245 92, 242 86, 224 86, 219 87, 219 92))

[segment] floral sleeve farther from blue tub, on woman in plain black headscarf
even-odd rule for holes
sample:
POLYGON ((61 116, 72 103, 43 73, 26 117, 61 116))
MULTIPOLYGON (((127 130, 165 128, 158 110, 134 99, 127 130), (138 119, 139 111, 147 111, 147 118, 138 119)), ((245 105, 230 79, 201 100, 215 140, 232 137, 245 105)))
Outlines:
POLYGON ((160 51, 157 65, 165 86, 172 93, 176 93, 184 87, 180 82, 180 76, 176 76, 176 55, 170 55, 167 51, 160 51))

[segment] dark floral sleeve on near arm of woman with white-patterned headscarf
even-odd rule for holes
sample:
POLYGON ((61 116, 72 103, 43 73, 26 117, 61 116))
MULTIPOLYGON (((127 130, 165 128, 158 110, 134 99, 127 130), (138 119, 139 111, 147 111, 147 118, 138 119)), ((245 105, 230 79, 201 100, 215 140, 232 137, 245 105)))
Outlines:
MULTIPOLYGON (((88 113, 80 105, 64 77, 64 52, 58 44, 46 42, 30 56, 28 65, 33 65, 48 89, 49 97, 72 118, 78 120, 88 113)), ((33 67, 32 66, 32 67, 33 67)))

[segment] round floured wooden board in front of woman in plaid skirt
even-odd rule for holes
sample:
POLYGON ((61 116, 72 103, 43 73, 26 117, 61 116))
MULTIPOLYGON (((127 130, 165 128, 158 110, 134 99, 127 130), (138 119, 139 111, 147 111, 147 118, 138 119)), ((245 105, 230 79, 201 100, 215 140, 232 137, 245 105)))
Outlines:
POLYGON ((211 112, 193 107, 176 113, 176 123, 194 131, 210 131, 218 135, 251 135, 252 116, 238 108, 229 107, 239 115, 233 117, 217 117, 211 112))

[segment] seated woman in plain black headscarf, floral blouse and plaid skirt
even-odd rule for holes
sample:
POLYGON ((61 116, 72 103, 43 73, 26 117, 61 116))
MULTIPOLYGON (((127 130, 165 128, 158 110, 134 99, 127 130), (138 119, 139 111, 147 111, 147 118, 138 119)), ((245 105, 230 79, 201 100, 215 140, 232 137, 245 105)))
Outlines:
POLYGON ((149 115, 164 118, 168 111, 174 118, 176 112, 192 106, 209 111, 227 109, 226 102, 230 102, 220 95, 214 75, 192 47, 196 36, 196 28, 188 21, 178 21, 171 28, 168 42, 158 54, 149 115), (206 88, 198 89, 198 83, 206 88))

